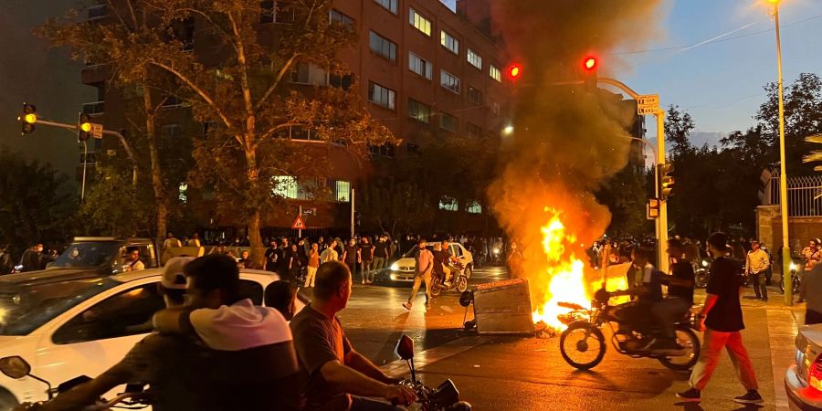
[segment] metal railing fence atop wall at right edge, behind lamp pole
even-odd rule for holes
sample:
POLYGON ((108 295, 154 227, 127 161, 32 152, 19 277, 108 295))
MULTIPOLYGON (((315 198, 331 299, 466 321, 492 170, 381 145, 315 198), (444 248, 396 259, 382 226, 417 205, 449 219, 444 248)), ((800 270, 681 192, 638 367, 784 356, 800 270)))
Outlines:
MULTIPOLYGON (((779 176, 775 175, 764 187, 765 198, 771 205, 780 204, 779 176)), ((822 175, 788 177, 788 216, 822 216, 822 175)))

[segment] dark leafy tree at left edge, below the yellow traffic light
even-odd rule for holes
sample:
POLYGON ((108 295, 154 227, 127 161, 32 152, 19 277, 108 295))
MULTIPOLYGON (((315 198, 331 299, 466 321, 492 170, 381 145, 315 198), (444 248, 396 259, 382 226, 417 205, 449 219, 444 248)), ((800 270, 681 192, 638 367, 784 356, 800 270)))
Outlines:
POLYGON ((63 243, 77 207, 66 182, 49 164, 0 149, 0 245, 18 255, 35 242, 63 243))

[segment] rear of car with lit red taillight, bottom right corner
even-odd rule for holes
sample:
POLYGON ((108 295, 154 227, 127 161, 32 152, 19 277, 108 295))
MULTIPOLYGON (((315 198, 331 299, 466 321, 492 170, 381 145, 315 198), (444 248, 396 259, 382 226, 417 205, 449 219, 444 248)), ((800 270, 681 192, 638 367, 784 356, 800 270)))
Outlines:
POLYGON ((822 324, 799 327, 796 361, 785 373, 791 410, 822 411, 822 324))

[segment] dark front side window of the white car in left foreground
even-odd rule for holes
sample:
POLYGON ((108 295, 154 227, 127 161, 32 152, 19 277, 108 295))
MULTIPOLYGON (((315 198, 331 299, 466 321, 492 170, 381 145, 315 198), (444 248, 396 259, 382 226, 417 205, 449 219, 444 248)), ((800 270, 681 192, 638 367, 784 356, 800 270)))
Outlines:
POLYGON ((125 290, 81 312, 54 333, 56 344, 89 342, 143 334, 153 330, 154 313, 165 308, 152 282, 125 290))

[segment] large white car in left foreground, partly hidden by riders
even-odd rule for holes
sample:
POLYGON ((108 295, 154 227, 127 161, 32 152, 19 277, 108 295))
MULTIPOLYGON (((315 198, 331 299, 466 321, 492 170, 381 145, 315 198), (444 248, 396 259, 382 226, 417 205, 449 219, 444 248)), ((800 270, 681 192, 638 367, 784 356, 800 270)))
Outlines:
MULTIPOLYGON (((152 331, 154 312, 165 307, 157 289, 161 273, 144 269, 100 277, 47 270, 0 278, 0 358, 20 355, 31 374, 55 386, 99 375, 152 331)), ((279 277, 241 269, 240 279, 241 294, 261 305, 266 286, 279 277)), ((0 374, 0 411, 46 399, 43 383, 0 374)))

